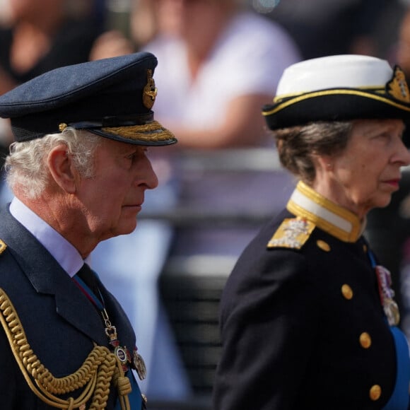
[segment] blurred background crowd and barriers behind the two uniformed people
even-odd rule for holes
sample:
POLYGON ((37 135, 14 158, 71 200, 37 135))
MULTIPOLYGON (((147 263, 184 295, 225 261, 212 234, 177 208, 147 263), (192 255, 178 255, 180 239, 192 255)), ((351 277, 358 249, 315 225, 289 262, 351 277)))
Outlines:
MULTIPOLYGON (((136 232, 100 244, 93 267, 134 324, 148 365, 143 392, 184 401, 195 382, 163 300, 164 271, 224 279, 293 191, 260 114, 286 66, 367 54, 410 79, 410 1, 0 0, 0 94, 58 66, 136 51, 158 57, 153 111, 180 143, 152 150, 158 189, 147 192, 136 232)), ((0 163, 11 142, 0 120, 0 163)), ((407 174, 392 204, 371 213, 368 237, 392 271, 410 339, 407 174)))

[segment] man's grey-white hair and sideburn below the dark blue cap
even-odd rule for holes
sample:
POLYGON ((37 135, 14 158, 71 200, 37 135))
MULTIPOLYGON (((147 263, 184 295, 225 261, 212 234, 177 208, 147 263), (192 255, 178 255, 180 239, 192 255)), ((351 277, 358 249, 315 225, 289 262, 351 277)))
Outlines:
POLYGON ((101 138, 89 131, 67 127, 59 134, 14 142, 4 165, 8 186, 12 190, 18 187, 30 199, 40 197, 50 177, 47 156, 59 144, 66 145, 66 153, 72 157, 81 177, 93 177, 95 148, 100 144, 101 138))

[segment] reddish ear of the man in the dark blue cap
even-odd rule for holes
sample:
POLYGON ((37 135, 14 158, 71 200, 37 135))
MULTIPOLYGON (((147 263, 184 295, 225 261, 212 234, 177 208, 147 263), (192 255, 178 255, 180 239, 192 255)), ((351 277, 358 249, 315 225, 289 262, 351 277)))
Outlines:
POLYGON ((60 144, 49 152, 47 157, 49 172, 57 185, 65 192, 74 194, 76 192, 76 170, 67 146, 60 144))

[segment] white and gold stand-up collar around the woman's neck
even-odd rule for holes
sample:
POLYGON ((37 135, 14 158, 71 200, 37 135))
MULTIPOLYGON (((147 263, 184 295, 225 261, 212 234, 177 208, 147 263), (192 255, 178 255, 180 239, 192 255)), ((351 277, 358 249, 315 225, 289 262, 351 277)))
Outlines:
POLYGON ((344 242, 356 242, 365 227, 354 213, 322 197, 302 181, 298 182, 286 209, 344 242))

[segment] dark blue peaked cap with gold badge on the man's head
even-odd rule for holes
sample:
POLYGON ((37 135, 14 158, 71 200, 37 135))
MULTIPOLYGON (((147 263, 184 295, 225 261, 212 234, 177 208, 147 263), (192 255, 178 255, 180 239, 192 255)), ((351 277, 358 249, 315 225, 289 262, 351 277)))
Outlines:
POLYGON ((151 110, 156 65, 139 52, 54 69, 1 95, 0 117, 11 119, 16 141, 74 127, 129 144, 174 144, 151 110))

